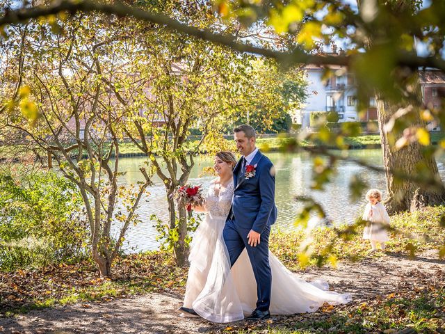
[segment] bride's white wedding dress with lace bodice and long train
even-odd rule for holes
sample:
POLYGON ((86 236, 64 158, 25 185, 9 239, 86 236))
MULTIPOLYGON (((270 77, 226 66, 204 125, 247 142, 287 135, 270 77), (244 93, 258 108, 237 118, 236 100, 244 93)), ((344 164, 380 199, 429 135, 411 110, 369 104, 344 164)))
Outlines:
MULTIPOLYGON (((241 320, 250 315, 257 303, 257 283, 246 250, 232 269, 223 239, 223 228, 232 203, 234 185, 216 195, 211 184, 206 197, 204 221, 195 232, 188 260, 184 307, 213 322, 241 320)), ((269 251, 272 269, 270 313, 291 315, 315 312, 323 303, 332 305, 352 301, 350 294, 327 291, 327 283, 308 283, 298 278, 269 251)))

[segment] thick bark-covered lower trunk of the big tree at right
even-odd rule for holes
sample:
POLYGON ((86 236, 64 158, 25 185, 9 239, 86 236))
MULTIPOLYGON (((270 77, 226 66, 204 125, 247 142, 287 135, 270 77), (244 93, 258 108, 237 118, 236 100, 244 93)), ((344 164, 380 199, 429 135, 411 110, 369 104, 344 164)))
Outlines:
MULTIPOLYGON (((428 186, 420 186, 411 180, 398 180, 394 173, 391 172, 391 170, 397 170, 405 175, 415 176, 419 175, 419 166, 423 166, 423 168, 426 168, 423 170, 428 170, 431 177, 437 177, 437 180, 440 180, 435 157, 432 155, 426 156, 419 143, 410 143, 410 145, 401 150, 394 150, 389 145, 389 138, 384 131, 384 127, 399 108, 407 106, 407 104, 403 105, 402 103, 393 104, 378 100, 378 125, 382 142, 383 164, 387 178, 385 206, 389 214, 407 210, 415 211, 429 205, 439 205, 445 200, 444 192, 436 191, 428 186)), ((418 120, 412 126, 418 125, 423 127, 425 124, 420 119, 419 108, 414 108, 416 109, 418 120)))

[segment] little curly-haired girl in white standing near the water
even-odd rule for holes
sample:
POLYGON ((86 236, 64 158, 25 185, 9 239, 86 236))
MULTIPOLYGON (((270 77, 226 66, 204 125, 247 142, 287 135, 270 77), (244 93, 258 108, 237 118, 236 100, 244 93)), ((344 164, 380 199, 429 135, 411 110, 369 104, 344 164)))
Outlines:
POLYGON ((369 221, 363 231, 363 239, 371 241, 372 250, 377 250, 377 242, 380 243, 382 249, 385 249, 385 241, 389 240, 385 225, 389 225, 389 216, 387 209, 380 203, 382 193, 377 189, 371 189, 366 193, 366 204, 363 213, 363 220, 369 221))

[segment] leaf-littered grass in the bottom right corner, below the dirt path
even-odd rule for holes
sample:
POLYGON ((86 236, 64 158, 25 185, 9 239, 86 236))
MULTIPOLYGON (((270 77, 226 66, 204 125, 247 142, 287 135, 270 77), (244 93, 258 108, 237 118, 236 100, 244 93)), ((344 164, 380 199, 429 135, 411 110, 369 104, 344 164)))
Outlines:
POLYGON ((444 333, 445 288, 418 289, 394 296, 378 297, 369 302, 326 305, 311 315, 276 319, 257 328, 226 327, 223 333, 396 333, 412 328, 416 333, 444 333), (336 310, 337 309, 337 310, 336 310), (267 332, 265 332, 267 331, 267 332))

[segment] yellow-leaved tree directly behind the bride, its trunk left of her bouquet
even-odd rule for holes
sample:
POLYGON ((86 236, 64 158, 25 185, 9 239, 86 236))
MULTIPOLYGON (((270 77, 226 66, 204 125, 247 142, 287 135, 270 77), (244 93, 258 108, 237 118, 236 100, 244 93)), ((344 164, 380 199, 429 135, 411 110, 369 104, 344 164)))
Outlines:
MULTIPOLYGON (((257 36, 240 30, 236 21, 222 22, 217 15, 209 14, 209 3, 165 1, 162 9, 188 24, 236 33, 238 38, 245 34, 249 38, 257 36)), ((190 239, 187 213, 184 206, 175 203, 173 194, 188 182, 195 156, 221 149, 219 129, 232 114, 249 110, 257 113, 262 106, 261 113, 268 115, 264 119, 270 122, 277 110, 290 103, 267 80, 277 82, 280 76, 276 65, 254 66, 253 56, 184 34, 171 34, 163 27, 144 31, 137 22, 133 26, 137 27, 133 31, 136 38, 143 42, 137 49, 128 50, 125 58, 137 57, 138 62, 127 73, 145 84, 116 89, 128 86, 127 76, 120 75, 113 77, 108 86, 127 110, 125 134, 152 161, 155 173, 163 181, 169 209, 167 234, 177 264, 184 265, 190 239), (263 78, 261 74, 268 75, 263 78), (188 141, 191 129, 202 134, 195 143, 188 141)), ((291 77, 296 79, 296 86, 304 85, 297 70, 291 77)), ((299 97, 293 97, 292 103, 298 103, 299 97)))

